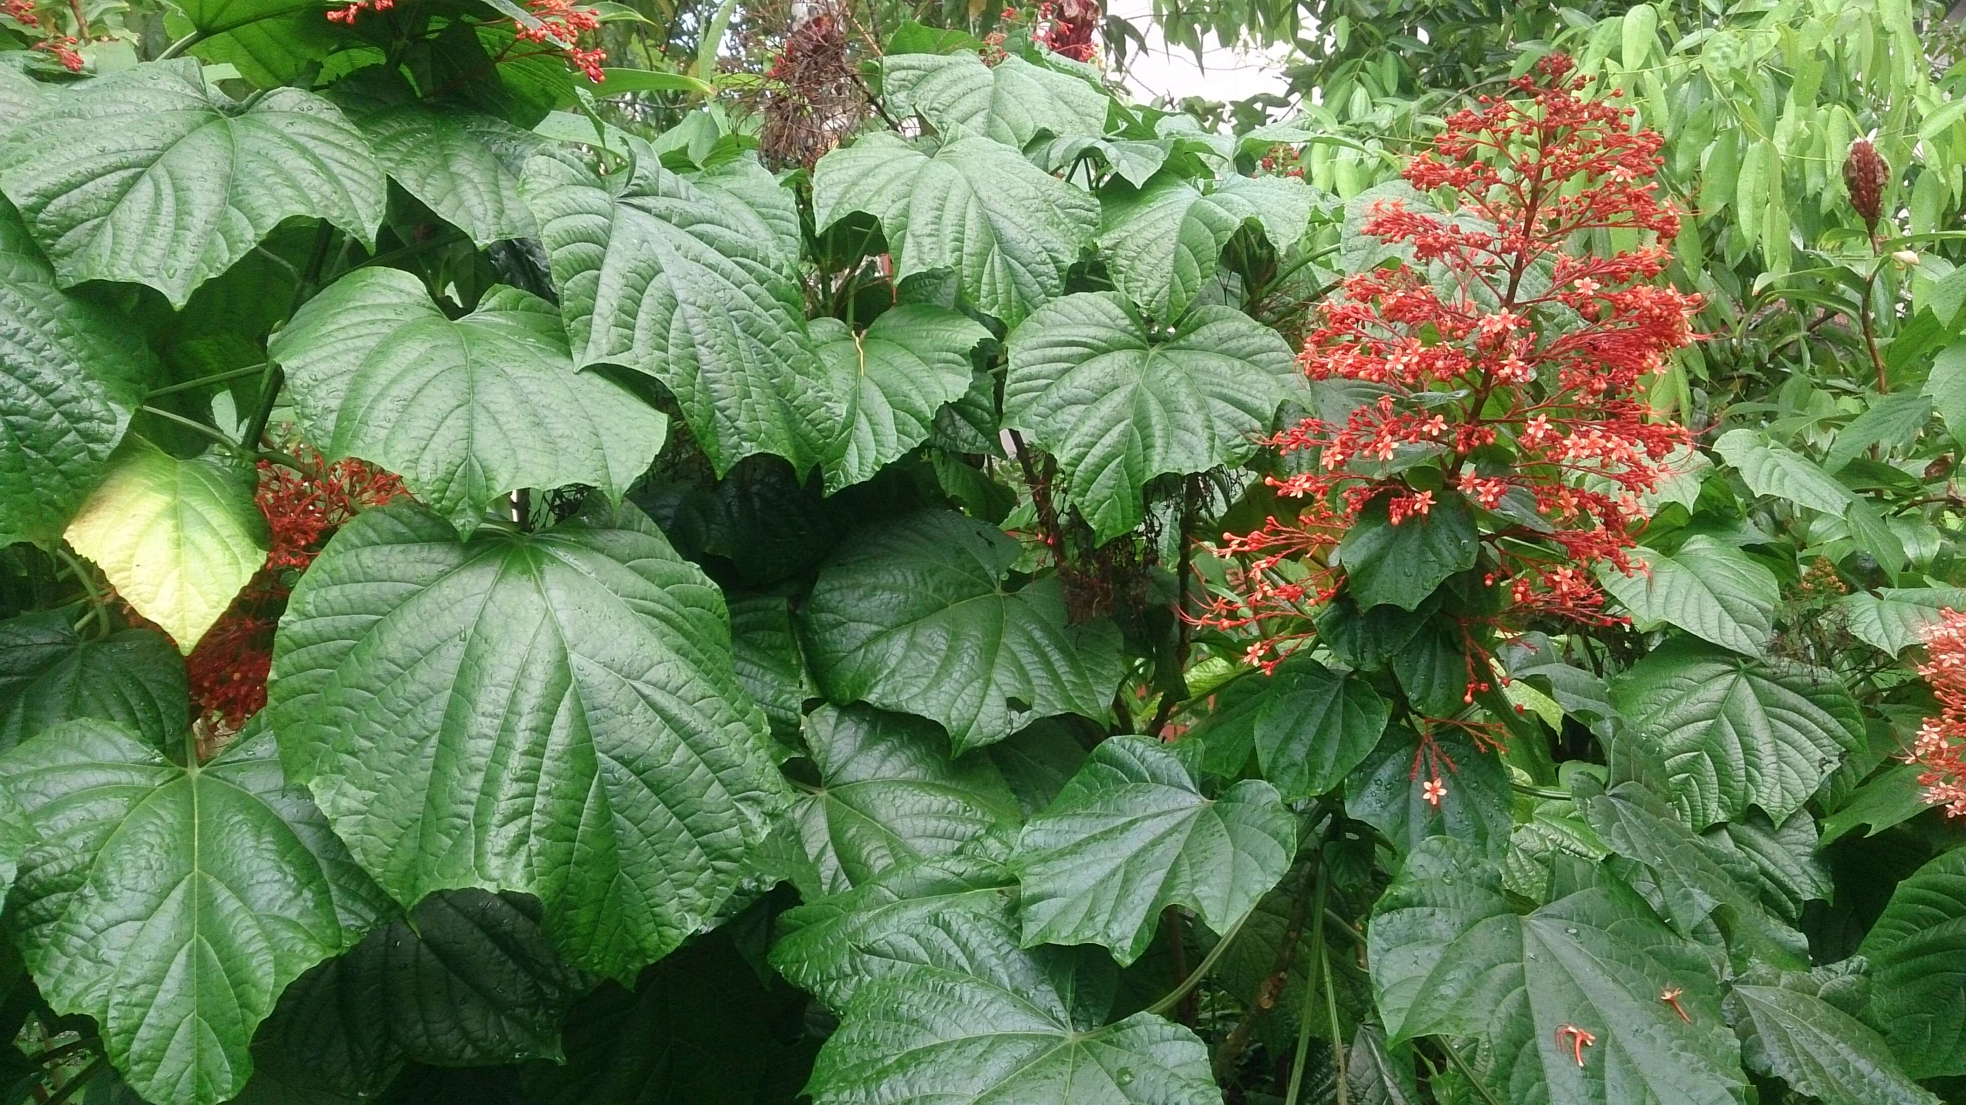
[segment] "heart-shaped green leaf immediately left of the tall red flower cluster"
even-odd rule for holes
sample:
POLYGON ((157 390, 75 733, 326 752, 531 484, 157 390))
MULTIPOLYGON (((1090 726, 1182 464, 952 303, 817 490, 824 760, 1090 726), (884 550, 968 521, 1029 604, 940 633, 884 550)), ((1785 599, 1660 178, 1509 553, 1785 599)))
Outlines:
POLYGON ((1140 523, 1154 476, 1248 460, 1292 379, 1290 346, 1241 311, 1201 307, 1156 342, 1123 295, 1079 293, 1011 334, 1003 417, 1058 458, 1107 541, 1140 523))

